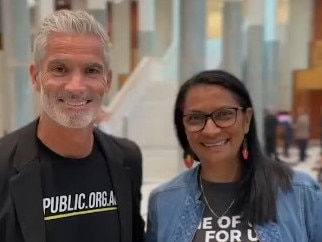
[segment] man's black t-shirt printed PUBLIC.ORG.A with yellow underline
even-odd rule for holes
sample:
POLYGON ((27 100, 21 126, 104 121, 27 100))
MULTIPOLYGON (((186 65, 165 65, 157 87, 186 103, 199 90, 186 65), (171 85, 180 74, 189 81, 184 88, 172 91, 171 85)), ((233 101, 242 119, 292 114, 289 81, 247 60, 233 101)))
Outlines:
POLYGON ((39 140, 47 242, 119 242, 117 199, 102 151, 62 157, 39 140))

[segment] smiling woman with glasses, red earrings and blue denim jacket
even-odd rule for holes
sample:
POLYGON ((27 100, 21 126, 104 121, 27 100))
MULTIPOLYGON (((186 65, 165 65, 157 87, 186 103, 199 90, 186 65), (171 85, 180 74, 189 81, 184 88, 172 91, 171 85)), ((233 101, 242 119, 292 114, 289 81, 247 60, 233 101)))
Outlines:
POLYGON ((151 193, 148 242, 322 241, 321 191, 263 154, 241 81, 219 70, 193 76, 174 115, 182 148, 200 165, 151 193))

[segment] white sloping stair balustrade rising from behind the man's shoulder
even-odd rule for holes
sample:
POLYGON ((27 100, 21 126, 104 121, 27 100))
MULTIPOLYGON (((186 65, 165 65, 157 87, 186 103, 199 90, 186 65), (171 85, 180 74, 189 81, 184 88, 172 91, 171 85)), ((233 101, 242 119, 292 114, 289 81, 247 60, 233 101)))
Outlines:
POLYGON ((113 134, 127 137, 129 114, 149 82, 177 79, 177 46, 177 42, 174 41, 162 58, 143 57, 110 104, 104 108, 110 113, 109 123, 113 134))

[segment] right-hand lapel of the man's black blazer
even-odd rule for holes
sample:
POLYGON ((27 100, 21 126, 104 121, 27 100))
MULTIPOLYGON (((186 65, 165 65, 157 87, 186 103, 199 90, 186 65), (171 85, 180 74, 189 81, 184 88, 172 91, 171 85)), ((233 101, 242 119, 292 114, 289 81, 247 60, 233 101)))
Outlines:
POLYGON ((123 154, 108 136, 95 130, 95 137, 106 157, 112 184, 116 193, 118 213, 121 225, 121 241, 132 241, 132 197, 131 176, 123 166, 123 154))

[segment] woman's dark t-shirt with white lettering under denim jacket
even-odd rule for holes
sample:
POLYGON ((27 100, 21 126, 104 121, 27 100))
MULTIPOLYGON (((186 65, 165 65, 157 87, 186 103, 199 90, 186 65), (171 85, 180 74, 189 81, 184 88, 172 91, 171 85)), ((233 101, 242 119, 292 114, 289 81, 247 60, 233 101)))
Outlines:
POLYGON ((202 179, 202 184, 211 209, 220 218, 212 214, 202 196, 205 210, 193 242, 258 241, 252 226, 241 219, 242 211, 236 211, 232 204, 238 192, 238 183, 212 183, 202 179))

